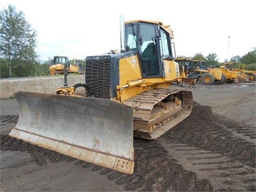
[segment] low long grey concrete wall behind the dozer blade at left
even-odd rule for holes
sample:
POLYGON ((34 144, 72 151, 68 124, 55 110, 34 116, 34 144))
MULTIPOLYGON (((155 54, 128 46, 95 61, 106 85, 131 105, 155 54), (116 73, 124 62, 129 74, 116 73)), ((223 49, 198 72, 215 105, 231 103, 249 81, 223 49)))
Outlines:
MULTIPOLYGON (((68 76, 68 86, 85 83, 85 75, 68 76)), ((18 91, 54 94, 63 86, 64 77, 15 78, 0 80, 0 98, 10 98, 18 91)))

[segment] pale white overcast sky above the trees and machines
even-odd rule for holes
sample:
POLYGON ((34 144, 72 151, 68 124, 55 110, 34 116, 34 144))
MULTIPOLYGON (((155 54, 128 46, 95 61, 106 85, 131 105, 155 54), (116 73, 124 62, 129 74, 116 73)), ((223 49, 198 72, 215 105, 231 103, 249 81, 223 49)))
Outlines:
POLYGON ((40 60, 54 55, 85 59, 120 50, 119 16, 170 25, 177 55, 216 53, 219 62, 256 47, 254 0, 1 0, 25 14, 37 31, 40 60))

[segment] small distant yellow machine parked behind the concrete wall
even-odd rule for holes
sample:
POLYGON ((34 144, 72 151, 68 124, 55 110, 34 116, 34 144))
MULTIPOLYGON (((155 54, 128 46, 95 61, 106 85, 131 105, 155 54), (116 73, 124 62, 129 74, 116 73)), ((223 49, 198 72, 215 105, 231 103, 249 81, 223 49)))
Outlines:
POLYGON ((84 74, 84 68, 81 64, 70 64, 66 56, 54 56, 53 64, 49 67, 50 75, 63 75, 64 65, 67 65, 68 74, 84 74))

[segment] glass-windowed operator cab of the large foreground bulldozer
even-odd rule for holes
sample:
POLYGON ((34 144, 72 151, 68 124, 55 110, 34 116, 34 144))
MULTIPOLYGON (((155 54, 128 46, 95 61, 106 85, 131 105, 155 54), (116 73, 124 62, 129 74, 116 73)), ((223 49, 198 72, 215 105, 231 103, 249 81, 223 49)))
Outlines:
POLYGON ((151 21, 125 23, 125 50, 138 52, 143 78, 164 77, 163 59, 175 58, 172 37, 165 30, 167 27, 162 27, 161 22, 151 21))

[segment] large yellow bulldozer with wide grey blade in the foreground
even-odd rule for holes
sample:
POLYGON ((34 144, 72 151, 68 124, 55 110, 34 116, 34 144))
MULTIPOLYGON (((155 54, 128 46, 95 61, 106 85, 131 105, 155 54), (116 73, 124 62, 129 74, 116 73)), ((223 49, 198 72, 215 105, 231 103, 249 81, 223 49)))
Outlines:
POLYGON ((85 84, 68 86, 66 78, 56 94, 15 93, 11 137, 132 174, 133 137, 157 139, 190 115, 193 94, 174 83, 181 75, 173 30, 120 19, 121 51, 87 56, 85 84))

